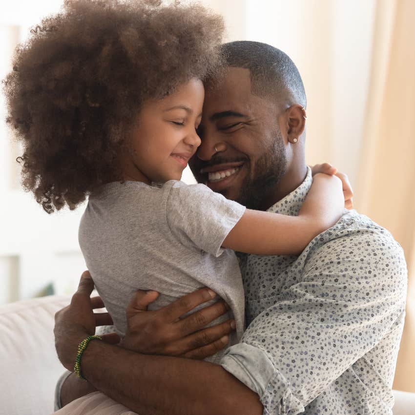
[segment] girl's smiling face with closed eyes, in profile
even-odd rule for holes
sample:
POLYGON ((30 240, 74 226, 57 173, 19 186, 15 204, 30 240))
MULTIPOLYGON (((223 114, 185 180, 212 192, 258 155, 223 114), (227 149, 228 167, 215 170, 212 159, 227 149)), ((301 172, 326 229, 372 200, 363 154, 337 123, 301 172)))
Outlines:
POLYGON ((200 145, 196 133, 202 119, 205 89, 192 79, 162 100, 146 101, 130 134, 130 151, 121 163, 124 180, 150 184, 180 180, 200 145))

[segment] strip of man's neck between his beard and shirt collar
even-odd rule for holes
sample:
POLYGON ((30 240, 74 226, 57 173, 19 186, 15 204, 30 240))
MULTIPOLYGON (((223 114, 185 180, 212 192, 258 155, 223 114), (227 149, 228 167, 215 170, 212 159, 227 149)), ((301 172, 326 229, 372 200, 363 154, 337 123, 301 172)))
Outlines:
POLYGON ((307 165, 305 163, 297 166, 291 165, 277 185, 268 192, 261 210, 268 210, 272 205, 294 191, 304 182, 306 176, 307 165))

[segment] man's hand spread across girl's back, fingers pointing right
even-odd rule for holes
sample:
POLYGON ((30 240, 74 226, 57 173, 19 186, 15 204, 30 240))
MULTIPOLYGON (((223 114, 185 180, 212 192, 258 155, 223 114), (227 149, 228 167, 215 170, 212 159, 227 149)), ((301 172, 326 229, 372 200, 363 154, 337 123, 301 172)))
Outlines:
POLYGON ((206 329, 204 327, 228 311, 224 301, 180 318, 215 296, 215 292, 204 288, 159 310, 146 311, 158 293, 137 291, 126 310, 128 329, 120 346, 139 353, 191 359, 204 359, 217 353, 228 344, 228 334, 235 330, 235 322, 228 320, 206 329))

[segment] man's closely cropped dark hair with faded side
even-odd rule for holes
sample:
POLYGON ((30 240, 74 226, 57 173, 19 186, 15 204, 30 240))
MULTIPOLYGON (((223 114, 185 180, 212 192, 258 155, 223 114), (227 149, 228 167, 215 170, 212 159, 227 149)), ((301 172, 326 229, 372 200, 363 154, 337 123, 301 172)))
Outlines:
POLYGON ((249 69, 252 93, 283 106, 307 105, 300 73, 283 51, 250 41, 229 42, 222 47, 228 66, 249 69))

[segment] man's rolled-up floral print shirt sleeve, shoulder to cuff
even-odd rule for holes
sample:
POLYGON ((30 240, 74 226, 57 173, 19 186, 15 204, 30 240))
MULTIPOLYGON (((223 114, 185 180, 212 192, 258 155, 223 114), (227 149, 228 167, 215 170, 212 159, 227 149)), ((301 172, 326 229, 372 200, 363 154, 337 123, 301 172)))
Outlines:
POLYGON ((267 299, 221 362, 260 396, 264 414, 303 412, 403 324, 407 269, 389 232, 355 228, 303 255, 298 283, 267 299))

